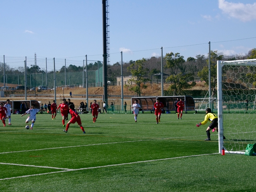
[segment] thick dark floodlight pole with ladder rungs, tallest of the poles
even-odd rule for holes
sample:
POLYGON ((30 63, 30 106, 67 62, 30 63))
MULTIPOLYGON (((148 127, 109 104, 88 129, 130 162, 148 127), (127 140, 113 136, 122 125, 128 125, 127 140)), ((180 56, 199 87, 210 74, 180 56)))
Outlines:
POLYGON ((103 90, 104 100, 108 106, 108 64, 107 64, 107 22, 106 22, 106 0, 102 0, 102 32, 103 32, 103 90))

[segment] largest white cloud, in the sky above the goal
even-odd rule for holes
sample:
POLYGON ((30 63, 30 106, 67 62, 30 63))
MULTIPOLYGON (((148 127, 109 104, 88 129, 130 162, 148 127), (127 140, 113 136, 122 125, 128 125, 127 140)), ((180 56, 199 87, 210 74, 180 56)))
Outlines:
POLYGON ((256 3, 230 3, 225 0, 219 0, 219 8, 224 14, 228 14, 228 16, 237 18, 243 22, 256 20, 256 3))

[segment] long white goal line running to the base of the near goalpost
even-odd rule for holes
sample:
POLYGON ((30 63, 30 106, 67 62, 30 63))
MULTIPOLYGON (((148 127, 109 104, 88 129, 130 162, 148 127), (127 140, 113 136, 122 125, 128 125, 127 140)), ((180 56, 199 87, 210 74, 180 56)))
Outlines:
POLYGON ((188 157, 196 157, 196 156, 204 156, 204 155, 216 155, 216 154, 218 154, 218 153, 201 154, 201 155, 190 155, 190 156, 173 157, 173 158, 165 158, 165 159, 155 159, 155 160, 147 160, 147 161, 137 161, 137 162, 130 162, 130 163, 113 164, 113 165, 105 165, 105 166, 97 166, 97 167, 87 167, 87 168, 80 168, 80 169, 69 169, 69 170, 49 172, 49 173, 41 173, 41 174, 34 174, 34 175, 24 175, 24 176, 18 176, 18 177, 4 178, 4 179, 0 179, 0 180, 8 180, 8 179, 30 177, 30 176, 39 176, 39 175, 54 174, 54 173, 60 173, 60 172, 78 171, 78 170, 86 170, 86 169, 96 169, 96 168, 104 168, 104 167, 112 167, 112 166, 122 166, 122 165, 129 165, 129 164, 136 164, 136 163, 145 163, 145 162, 152 162, 152 161, 162 161, 162 160, 170 160, 170 159, 178 159, 178 158, 188 158, 188 157))

